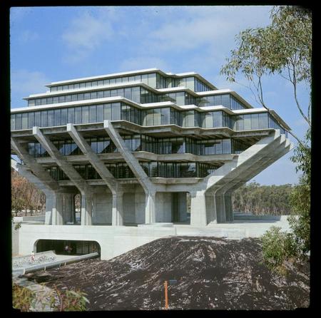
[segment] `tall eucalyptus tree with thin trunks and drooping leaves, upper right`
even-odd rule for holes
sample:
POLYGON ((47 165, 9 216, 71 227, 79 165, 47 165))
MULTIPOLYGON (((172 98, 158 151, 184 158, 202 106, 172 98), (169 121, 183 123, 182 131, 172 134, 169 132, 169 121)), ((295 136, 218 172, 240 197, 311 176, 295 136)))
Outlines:
MULTIPOLYGON (((220 74, 230 82, 236 82, 240 74, 248 80, 248 88, 255 101, 270 112, 265 102, 263 76, 280 75, 293 88, 295 105, 305 122, 311 127, 311 58, 312 14, 299 6, 275 6, 271 24, 265 28, 246 29, 236 36, 236 48, 230 51, 220 74), (310 91, 307 113, 297 96, 297 85, 305 83, 310 91)), ((295 133, 288 133, 310 151, 295 133)))

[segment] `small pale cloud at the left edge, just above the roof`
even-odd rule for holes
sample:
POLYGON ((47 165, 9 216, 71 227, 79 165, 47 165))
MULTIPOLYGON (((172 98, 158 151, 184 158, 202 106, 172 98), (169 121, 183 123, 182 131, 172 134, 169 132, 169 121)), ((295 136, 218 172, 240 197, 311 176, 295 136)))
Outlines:
POLYGON ((49 83, 49 78, 38 71, 24 69, 11 72, 11 107, 26 106, 26 101, 21 98, 34 93, 48 90, 44 85, 49 83), (18 105, 19 104, 19 105, 18 105))

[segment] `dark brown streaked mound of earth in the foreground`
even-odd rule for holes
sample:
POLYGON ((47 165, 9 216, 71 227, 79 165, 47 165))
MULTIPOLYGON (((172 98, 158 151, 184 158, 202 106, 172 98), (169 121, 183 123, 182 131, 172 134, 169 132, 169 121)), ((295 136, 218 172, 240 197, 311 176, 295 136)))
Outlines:
POLYGON ((286 277, 262 264, 258 239, 166 237, 112 260, 85 260, 29 279, 86 292, 89 310, 295 309, 310 304, 310 266, 286 277))

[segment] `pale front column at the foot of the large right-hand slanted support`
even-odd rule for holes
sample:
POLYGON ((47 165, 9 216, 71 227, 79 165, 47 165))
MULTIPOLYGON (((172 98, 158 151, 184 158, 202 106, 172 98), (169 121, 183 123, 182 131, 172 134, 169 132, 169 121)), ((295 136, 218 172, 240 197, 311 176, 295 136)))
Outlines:
POLYGON ((190 193, 190 225, 206 226, 206 199, 204 191, 190 193))

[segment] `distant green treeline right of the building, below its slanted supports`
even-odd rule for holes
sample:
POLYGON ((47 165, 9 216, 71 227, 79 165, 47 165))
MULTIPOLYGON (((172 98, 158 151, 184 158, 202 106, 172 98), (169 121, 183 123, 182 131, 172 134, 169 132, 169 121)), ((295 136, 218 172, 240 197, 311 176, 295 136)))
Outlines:
POLYGON ((256 215, 290 215, 292 185, 260 185, 249 183, 235 190, 233 211, 256 215))

